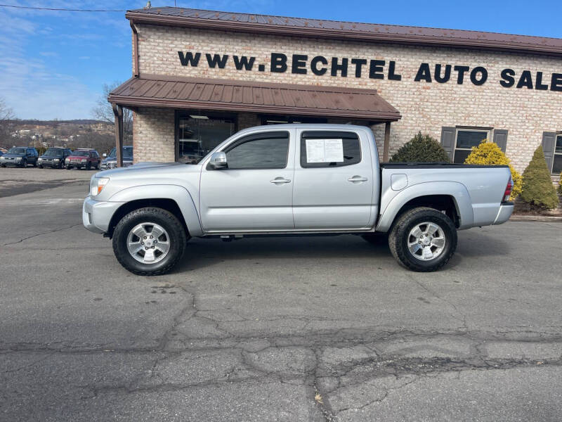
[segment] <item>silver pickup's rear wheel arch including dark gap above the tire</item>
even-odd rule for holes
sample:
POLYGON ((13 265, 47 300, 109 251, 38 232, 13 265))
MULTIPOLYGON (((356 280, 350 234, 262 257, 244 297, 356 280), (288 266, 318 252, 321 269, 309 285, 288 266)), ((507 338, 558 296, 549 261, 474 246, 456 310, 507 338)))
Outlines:
POLYGON ((414 207, 430 207, 445 211, 457 229, 471 226, 474 219, 471 198, 466 186, 453 181, 428 182, 410 186, 398 193, 381 212, 377 231, 390 230, 400 215, 414 207))

